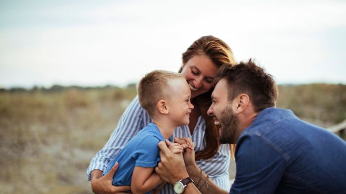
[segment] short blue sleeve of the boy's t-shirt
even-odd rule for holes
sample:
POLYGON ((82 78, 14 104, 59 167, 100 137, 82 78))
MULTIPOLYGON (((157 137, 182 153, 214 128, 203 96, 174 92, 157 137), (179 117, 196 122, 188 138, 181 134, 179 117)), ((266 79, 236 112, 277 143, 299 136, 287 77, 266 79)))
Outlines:
POLYGON ((132 154, 135 158, 135 166, 155 167, 160 161, 159 139, 154 136, 144 138, 132 154))

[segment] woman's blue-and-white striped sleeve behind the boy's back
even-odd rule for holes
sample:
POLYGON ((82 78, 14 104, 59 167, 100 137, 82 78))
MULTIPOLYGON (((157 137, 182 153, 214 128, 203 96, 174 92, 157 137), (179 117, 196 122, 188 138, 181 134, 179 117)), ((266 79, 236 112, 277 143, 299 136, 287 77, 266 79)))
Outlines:
POLYGON ((138 96, 136 96, 121 116, 118 126, 112 132, 107 143, 91 160, 87 168, 88 181, 91 180, 90 172, 92 170, 99 169, 105 171, 107 163, 124 148, 140 129, 146 126, 142 121, 143 118, 148 117, 147 114, 148 113, 140 106, 138 96))

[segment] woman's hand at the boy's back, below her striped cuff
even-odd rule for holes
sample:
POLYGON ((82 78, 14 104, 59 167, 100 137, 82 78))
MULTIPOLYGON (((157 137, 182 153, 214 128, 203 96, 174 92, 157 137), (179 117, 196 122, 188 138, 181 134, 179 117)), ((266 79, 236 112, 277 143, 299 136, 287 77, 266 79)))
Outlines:
POLYGON ((95 194, 125 194, 124 191, 130 191, 130 186, 113 186, 113 176, 119 167, 118 162, 115 162, 111 170, 104 176, 102 171, 91 172, 91 190, 95 194))

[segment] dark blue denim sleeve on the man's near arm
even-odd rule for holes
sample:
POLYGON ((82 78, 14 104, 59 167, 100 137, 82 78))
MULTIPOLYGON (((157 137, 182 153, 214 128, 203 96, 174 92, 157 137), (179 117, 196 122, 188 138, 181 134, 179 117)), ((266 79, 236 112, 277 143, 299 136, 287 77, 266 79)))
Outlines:
POLYGON ((287 165, 279 149, 254 134, 241 137, 237 147, 237 171, 230 193, 275 193, 287 165))

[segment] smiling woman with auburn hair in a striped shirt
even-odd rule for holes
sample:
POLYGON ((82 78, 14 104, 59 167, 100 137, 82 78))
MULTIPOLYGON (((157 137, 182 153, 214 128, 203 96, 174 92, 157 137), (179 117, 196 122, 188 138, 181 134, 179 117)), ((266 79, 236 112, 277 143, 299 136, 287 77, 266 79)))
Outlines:
MULTIPOLYGON (((173 137, 189 137, 195 143, 197 165, 222 189, 229 190, 228 163, 229 145, 218 143, 218 132, 213 118, 207 115, 211 105, 213 80, 219 66, 235 64, 232 50, 221 39, 202 36, 182 54, 183 74, 191 89, 191 103, 194 109, 190 114, 190 124, 177 128, 173 137)), ((95 193, 106 193, 111 185, 102 179, 102 171, 125 144, 143 127, 151 122, 148 113, 140 107, 135 97, 119 120, 117 128, 108 142, 91 160, 87 169, 88 180, 95 193), (106 189, 105 189, 106 187, 106 189)), ((174 194, 173 186, 166 184, 160 191, 174 194)))

